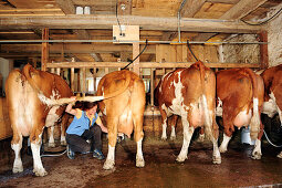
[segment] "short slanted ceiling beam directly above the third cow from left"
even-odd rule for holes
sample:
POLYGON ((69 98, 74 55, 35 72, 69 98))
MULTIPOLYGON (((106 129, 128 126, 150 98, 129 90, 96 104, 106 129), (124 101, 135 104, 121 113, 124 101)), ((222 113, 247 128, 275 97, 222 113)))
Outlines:
POLYGON ((194 18, 194 15, 201 9, 206 0, 187 0, 184 4, 181 17, 194 18))

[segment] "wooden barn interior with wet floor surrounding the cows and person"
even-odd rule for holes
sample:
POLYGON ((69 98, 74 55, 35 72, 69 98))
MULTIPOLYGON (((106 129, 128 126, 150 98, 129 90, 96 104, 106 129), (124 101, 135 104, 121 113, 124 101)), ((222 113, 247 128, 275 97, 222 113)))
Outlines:
MULTIPOLYGON (((236 127, 228 150, 220 154, 221 164, 212 164, 212 143, 198 140, 196 128, 187 159, 178 163, 182 122, 177 119, 171 140, 173 119, 168 117, 168 136, 161 139, 154 90, 163 75, 188 69, 198 60, 213 72, 282 64, 281 11, 281 0, 0 0, 0 187, 280 187, 278 114, 272 118, 261 114, 268 135, 261 137, 261 159, 251 158, 254 144, 242 139, 247 128, 236 127), (69 159, 66 147, 60 144, 60 118, 54 124, 55 147, 48 145, 51 128, 42 134, 41 160, 48 175, 34 175, 29 137, 23 137, 21 149, 23 171, 13 174, 13 132, 4 87, 9 73, 28 63, 60 75, 80 96, 96 95, 101 79, 108 73, 135 72, 146 93, 145 167, 135 166, 134 134, 118 137, 113 169, 103 169, 105 159, 91 154, 69 159)), ((219 146, 221 117, 217 124, 219 146)), ((106 134, 102 140, 107 156, 106 134)))

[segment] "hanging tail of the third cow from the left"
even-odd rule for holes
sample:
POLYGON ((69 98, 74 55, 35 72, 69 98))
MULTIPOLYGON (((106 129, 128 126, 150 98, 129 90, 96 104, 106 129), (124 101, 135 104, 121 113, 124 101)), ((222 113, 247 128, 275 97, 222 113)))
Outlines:
POLYGON ((201 91, 202 91, 202 105, 203 105, 203 115, 205 115, 205 124, 203 124, 203 128, 205 128, 205 134, 206 134, 206 138, 210 139, 213 137, 212 136, 212 118, 211 115, 209 113, 209 108, 208 108, 208 101, 207 101, 207 92, 206 92, 206 84, 205 84, 205 69, 206 66, 203 65, 203 63, 201 61, 198 61, 196 64, 198 64, 199 71, 200 71, 200 82, 201 82, 201 91))

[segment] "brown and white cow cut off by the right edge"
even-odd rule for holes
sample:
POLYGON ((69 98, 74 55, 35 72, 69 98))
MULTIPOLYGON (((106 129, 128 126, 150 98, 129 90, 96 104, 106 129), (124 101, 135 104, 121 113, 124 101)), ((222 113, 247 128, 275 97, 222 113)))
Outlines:
MULTIPOLYGON (((269 117, 279 114, 282 126, 282 64, 267 69, 261 76, 265 88, 262 113, 269 117)), ((282 152, 278 157, 282 158, 282 152)))

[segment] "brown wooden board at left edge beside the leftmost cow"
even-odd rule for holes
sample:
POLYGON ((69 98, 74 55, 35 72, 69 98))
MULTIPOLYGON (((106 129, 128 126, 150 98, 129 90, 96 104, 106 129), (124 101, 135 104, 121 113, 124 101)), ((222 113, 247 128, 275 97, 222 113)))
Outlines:
POLYGON ((0 97, 0 140, 11 137, 12 128, 4 97, 0 97))

